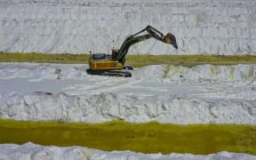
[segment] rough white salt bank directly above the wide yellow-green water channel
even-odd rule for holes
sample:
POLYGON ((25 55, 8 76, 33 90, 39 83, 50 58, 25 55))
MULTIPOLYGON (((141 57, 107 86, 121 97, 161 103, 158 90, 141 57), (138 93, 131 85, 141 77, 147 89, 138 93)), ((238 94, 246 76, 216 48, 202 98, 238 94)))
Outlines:
MULTIPOLYGON (((209 98, 208 98, 209 99, 209 98)), ((187 95, 128 96, 101 93, 0 92, 0 118, 25 121, 168 124, 256 124, 256 100, 204 100, 187 95)))

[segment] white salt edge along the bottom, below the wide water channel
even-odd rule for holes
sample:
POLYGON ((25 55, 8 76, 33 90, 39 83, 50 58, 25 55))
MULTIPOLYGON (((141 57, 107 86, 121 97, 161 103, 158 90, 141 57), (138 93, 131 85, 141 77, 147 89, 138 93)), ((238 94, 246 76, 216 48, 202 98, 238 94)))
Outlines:
POLYGON ((43 147, 33 143, 26 143, 23 145, 16 144, 1 144, 0 145, 0 158, 1 159, 29 159, 29 160, 44 160, 44 159, 93 159, 93 160, 113 160, 113 159, 172 159, 172 160, 252 160, 256 156, 231 153, 222 151, 212 155, 191 155, 191 154, 176 154, 172 153, 169 155, 158 154, 141 154, 132 151, 101 151, 92 148, 83 147, 69 147, 59 148, 54 146, 43 147))

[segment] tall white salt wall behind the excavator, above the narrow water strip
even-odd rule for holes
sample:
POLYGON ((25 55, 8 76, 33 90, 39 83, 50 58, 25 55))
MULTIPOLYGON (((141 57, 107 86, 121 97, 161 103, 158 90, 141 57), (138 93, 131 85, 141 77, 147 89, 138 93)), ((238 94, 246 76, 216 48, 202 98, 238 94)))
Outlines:
POLYGON ((111 52, 151 25, 179 50, 148 40, 130 54, 256 54, 255 0, 2 0, 2 52, 111 52))

